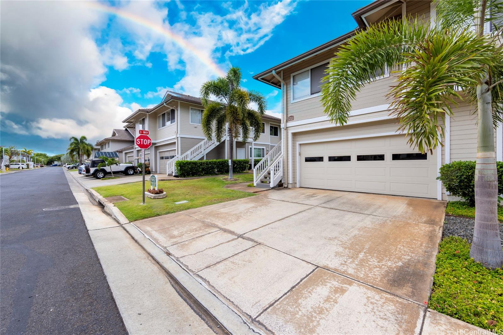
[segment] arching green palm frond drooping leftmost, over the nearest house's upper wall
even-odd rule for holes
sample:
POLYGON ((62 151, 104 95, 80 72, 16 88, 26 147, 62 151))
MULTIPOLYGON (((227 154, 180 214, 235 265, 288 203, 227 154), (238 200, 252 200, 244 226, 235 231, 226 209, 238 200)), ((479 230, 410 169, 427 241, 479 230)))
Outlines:
POLYGON ((330 120, 347 123, 357 93, 383 68, 405 64, 403 52, 424 40, 427 33, 428 27, 417 21, 390 20, 357 33, 341 46, 322 79, 326 82, 321 86, 321 103, 330 120))

